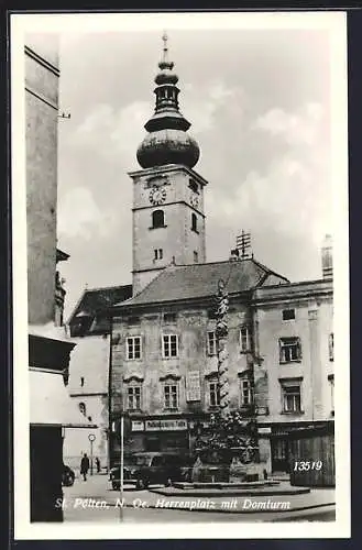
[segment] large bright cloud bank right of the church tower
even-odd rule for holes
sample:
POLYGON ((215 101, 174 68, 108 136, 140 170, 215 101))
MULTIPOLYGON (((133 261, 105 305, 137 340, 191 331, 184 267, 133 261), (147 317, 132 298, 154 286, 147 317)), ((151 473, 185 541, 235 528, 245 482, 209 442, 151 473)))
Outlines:
POLYGON ((233 193, 221 186, 210 189, 207 209, 212 223, 234 223, 234 231, 272 231, 281 242, 294 235, 319 244, 332 224, 322 118, 318 103, 307 103, 296 112, 273 108, 251 122, 244 129, 249 139, 257 139, 260 146, 272 140, 274 154, 264 165, 250 165, 233 193))

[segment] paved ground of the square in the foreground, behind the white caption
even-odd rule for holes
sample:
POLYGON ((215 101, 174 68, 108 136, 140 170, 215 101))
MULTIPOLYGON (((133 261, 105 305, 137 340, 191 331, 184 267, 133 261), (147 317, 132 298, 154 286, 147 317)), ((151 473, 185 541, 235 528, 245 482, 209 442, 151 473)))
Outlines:
MULTIPOLYGON (((287 482, 281 482, 281 486, 287 482)), ((290 485, 289 485, 290 486, 290 485)), ((334 490, 318 488, 307 494, 248 497, 195 497, 161 495, 151 486, 138 491, 125 485, 123 495, 113 491, 107 475, 77 477, 64 487, 65 521, 300 521, 334 520, 334 490), (196 514, 197 513, 197 514, 196 514)))

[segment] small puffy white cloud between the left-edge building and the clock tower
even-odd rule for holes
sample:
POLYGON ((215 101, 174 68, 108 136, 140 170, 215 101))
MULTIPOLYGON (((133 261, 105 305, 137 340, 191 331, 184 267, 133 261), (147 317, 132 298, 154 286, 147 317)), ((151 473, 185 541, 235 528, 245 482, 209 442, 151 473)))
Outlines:
POLYGON ((116 212, 100 209, 86 187, 70 189, 58 205, 58 237, 89 241, 95 233, 107 237, 117 223, 116 212))

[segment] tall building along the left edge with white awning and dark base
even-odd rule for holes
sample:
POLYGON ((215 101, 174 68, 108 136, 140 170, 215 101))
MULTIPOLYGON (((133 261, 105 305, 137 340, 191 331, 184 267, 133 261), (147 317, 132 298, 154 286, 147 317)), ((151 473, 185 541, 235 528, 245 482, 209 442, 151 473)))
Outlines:
MULTIPOLYGON (((89 427, 69 399, 70 352, 56 264, 58 50, 54 35, 28 35, 25 62, 31 521, 62 521, 65 427, 89 427)), ((17 365, 21 369, 21 365, 17 365)), ((26 460, 25 460, 26 461, 26 460)), ((21 492, 21 488, 19 490, 21 492)))

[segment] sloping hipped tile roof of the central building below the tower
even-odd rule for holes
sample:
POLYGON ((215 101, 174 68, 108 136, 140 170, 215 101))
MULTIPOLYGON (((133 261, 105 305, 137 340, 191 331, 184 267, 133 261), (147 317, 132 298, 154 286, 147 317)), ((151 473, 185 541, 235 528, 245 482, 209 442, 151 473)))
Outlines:
POLYGON ((215 296, 218 282, 227 283, 229 294, 252 290, 265 284, 286 284, 288 279, 254 258, 191 265, 171 265, 136 296, 114 307, 141 306, 215 296))

